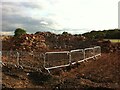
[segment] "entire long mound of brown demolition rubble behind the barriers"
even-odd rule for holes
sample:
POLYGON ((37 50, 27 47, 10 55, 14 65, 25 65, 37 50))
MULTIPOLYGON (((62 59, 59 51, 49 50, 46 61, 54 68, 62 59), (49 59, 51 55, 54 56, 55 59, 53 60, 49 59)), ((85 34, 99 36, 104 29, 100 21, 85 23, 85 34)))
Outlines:
POLYGON ((83 48, 85 38, 81 35, 63 35, 51 32, 24 34, 3 41, 3 50, 13 51, 56 51, 83 48), (82 46, 82 47, 81 47, 82 46))

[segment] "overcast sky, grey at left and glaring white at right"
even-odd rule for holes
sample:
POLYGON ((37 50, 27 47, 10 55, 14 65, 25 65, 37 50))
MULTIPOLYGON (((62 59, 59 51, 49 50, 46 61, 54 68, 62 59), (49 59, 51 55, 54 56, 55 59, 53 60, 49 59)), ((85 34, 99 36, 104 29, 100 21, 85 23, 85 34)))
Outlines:
POLYGON ((28 33, 118 28, 119 0, 2 0, 2 32, 13 34, 18 27, 28 33))

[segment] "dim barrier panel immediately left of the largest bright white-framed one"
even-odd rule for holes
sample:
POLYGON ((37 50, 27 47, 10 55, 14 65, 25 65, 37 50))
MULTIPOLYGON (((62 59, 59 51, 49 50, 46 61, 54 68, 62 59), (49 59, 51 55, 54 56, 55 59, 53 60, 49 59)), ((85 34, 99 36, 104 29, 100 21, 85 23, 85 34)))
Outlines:
POLYGON ((44 64, 43 53, 19 52, 19 64, 28 68, 42 68, 44 64))

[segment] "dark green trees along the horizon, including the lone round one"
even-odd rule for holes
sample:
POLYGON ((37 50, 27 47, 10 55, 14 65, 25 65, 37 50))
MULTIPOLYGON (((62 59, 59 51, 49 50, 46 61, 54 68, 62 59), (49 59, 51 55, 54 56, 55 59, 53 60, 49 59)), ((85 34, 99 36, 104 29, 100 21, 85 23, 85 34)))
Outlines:
MULTIPOLYGON (((20 36, 22 34, 26 34, 26 30, 22 28, 17 28, 14 32, 14 36, 20 36)), ((62 35, 69 36, 71 35, 68 32, 63 32, 62 35)), ((84 36, 88 39, 120 39, 120 29, 109 29, 103 31, 95 31, 87 32, 84 34, 76 34, 77 36, 84 36)), ((76 36, 74 35, 74 36, 76 36)))

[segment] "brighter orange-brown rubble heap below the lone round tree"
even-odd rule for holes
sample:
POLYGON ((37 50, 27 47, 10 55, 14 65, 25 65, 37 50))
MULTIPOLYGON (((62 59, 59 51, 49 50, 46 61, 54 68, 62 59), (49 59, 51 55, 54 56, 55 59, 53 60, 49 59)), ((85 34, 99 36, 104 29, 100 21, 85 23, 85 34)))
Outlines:
MULTIPOLYGON (((13 50, 13 51, 47 50, 47 46, 45 44, 45 38, 42 35, 24 34, 18 37, 12 37, 9 41, 7 41, 7 43, 9 46, 7 50, 13 50)), ((3 45, 4 45, 4 41, 3 41, 3 45)))

